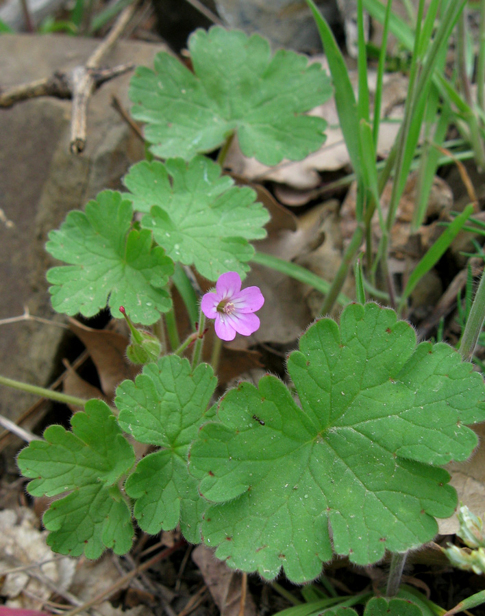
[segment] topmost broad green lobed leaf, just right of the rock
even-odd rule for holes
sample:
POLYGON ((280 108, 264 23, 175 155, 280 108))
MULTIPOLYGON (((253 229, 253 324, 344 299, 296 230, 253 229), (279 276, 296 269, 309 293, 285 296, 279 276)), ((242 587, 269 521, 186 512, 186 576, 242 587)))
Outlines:
POLYGON ((188 48, 195 74, 159 53, 155 70, 138 68, 130 83, 132 116, 147 123, 155 155, 190 159, 233 131, 242 153, 267 165, 323 144, 325 120, 303 115, 332 95, 319 64, 282 49, 272 56, 264 38, 221 27, 195 31, 188 48))

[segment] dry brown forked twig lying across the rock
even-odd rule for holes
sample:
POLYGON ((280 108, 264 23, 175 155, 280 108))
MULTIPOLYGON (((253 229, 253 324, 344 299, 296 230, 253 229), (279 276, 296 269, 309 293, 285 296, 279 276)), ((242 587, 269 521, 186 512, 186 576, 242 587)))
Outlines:
POLYGON ((135 10, 136 2, 121 12, 108 36, 92 52, 84 66, 75 66, 67 73, 56 71, 51 77, 14 86, 0 92, 0 107, 12 107, 16 103, 37 97, 72 99, 70 149, 75 154, 82 152, 86 146, 86 112, 91 94, 105 81, 127 73, 134 66, 133 64, 121 64, 114 68, 99 68, 101 58, 110 51, 123 34, 135 10))

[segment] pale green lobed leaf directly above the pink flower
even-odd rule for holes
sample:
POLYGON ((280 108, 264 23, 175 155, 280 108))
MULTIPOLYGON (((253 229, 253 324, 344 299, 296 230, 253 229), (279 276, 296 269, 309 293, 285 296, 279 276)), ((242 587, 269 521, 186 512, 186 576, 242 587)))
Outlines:
POLYGON ((244 276, 254 250, 247 240, 266 237, 269 214, 255 203, 256 192, 238 188, 210 159, 140 162, 124 179, 125 198, 137 211, 150 212, 142 227, 173 261, 194 264, 209 280, 224 272, 244 276), (153 206, 153 207, 152 207, 153 206))

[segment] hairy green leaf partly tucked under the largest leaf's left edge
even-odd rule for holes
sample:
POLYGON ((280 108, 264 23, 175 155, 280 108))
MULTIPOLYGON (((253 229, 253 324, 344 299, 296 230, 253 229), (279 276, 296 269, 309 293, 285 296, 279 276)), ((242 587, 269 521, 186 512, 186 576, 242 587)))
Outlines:
POLYGON ((187 359, 167 355, 145 365, 134 383, 123 381, 116 389, 123 430, 141 443, 160 447, 138 462, 125 485, 136 499, 134 514, 140 527, 153 535, 180 523, 188 541, 201 541, 207 502, 188 474, 188 448, 201 424, 212 417, 207 407, 215 387, 208 364, 192 372, 187 359))

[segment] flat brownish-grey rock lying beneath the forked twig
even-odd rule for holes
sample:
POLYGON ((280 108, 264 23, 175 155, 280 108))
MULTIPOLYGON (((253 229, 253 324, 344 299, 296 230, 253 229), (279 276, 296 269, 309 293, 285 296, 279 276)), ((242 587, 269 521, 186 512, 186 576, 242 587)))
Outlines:
MULTIPOLYGON (((0 36, 0 88, 48 77, 86 61, 99 41, 66 36, 0 36)), ((162 45, 119 42, 104 66, 123 62, 151 65, 162 45)), ((87 146, 69 152, 71 102, 44 98, 0 110, 0 320, 23 313, 64 322, 50 305, 45 271, 47 233, 71 209, 82 208, 104 188, 120 188, 128 166, 143 157, 141 142, 111 107, 116 96, 129 108, 130 75, 109 81, 88 108, 87 146), (1 214, 1 211, 0 211, 1 214)), ((1 326, 0 374, 49 385, 60 369, 65 330, 38 322, 1 326)), ((18 420, 35 396, 0 388, 0 413, 18 420)), ((1 432, 1 430, 0 430, 1 432)))

